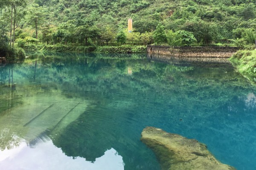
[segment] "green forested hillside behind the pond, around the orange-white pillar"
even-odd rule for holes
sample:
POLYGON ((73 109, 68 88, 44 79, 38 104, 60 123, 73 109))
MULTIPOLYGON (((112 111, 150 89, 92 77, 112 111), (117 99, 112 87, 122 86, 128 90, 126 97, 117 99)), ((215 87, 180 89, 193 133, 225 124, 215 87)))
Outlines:
POLYGON ((255 0, 0 0, 0 41, 19 47, 246 46, 255 29, 255 0))

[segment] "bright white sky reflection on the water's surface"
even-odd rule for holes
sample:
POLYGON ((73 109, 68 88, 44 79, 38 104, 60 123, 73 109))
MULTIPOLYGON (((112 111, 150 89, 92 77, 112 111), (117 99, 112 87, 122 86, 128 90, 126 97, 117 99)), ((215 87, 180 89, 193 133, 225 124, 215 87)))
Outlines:
POLYGON ((66 156, 52 141, 33 148, 21 142, 19 147, 0 151, 0 170, 124 170, 124 162, 113 148, 92 163, 66 156))

